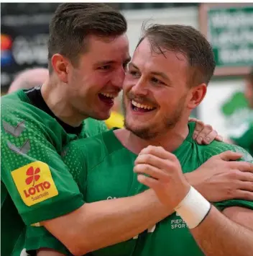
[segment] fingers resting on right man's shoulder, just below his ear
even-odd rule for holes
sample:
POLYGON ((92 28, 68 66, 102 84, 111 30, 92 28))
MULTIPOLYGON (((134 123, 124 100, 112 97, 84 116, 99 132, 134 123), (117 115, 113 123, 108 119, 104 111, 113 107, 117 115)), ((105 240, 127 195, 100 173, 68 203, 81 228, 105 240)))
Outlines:
POLYGON ((223 138, 218 135, 216 130, 213 130, 211 125, 206 125, 196 118, 189 118, 189 122, 196 123, 193 139, 197 141, 198 144, 208 145, 214 140, 223 141, 223 138))

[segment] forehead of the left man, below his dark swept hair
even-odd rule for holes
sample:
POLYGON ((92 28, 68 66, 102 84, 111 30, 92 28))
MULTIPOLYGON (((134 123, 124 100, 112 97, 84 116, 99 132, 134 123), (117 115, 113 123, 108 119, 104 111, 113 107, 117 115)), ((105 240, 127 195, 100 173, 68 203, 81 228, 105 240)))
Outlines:
POLYGON ((88 51, 84 54, 96 61, 119 61, 129 58, 129 41, 126 35, 118 37, 88 37, 88 51))

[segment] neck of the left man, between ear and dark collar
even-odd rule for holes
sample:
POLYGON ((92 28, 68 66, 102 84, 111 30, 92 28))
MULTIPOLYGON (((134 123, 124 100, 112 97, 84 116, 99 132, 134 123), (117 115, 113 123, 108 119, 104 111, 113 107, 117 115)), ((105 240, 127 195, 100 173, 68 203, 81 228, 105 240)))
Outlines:
POLYGON ((53 81, 49 80, 45 84, 42 84, 42 97, 54 115, 64 123, 77 127, 85 118, 73 110, 73 107, 68 101, 68 95, 64 92, 65 90, 60 88, 60 84, 54 83, 53 81))

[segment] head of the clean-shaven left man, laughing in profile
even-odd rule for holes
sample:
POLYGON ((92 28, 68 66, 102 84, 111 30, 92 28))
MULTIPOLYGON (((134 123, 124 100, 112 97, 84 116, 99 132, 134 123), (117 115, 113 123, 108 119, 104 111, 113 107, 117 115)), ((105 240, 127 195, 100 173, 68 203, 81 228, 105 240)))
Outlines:
POLYGON ((58 112, 70 123, 109 118, 129 62, 126 30, 124 16, 106 4, 57 6, 48 40, 50 84, 57 87, 58 112))

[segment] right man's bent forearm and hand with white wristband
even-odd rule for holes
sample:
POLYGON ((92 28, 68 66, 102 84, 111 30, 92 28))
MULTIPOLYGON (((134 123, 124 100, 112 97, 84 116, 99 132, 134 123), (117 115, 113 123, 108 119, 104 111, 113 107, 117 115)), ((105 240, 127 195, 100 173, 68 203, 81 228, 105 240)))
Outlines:
MULTIPOLYGON (((245 154, 244 157, 248 161, 252 159, 249 154, 245 154)), ((253 255, 252 210, 242 210, 237 207, 224 212, 236 221, 231 221, 214 206, 211 206, 209 211, 210 203, 190 187, 183 177, 180 162, 176 156, 160 147, 149 146, 143 149, 135 164, 134 172, 139 174, 139 182, 154 189, 165 206, 175 208, 205 255, 253 255), (154 161, 156 161, 155 164, 154 161), (248 223, 251 224, 246 228, 248 223)), ((249 165, 252 163, 249 162, 249 165)), ((249 182, 249 185, 251 184, 249 182)), ((229 203, 225 204, 229 206, 229 203)), ((252 201, 242 201, 237 204, 253 209, 252 201)))

